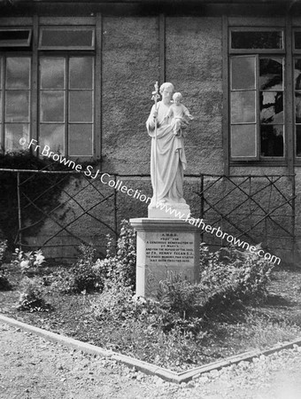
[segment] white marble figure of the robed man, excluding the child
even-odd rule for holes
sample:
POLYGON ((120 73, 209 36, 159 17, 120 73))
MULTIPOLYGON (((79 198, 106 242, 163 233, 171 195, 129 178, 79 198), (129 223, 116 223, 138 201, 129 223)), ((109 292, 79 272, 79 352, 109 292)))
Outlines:
MULTIPOLYGON (((155 86, 156 87, 156 86, 155 86)), ((174 85, 163 83, 160 87, 161 101, 155 98, 155 104, 146 121, 146 127, 151 136, 151 184, 153 196, 149 206, 156 208, 158 203, 171 204, 174 208, 189 210, 183 199, 183 176, 186 168, 186 156, 182 135, 174 134, 176 119, 169 115, 173 106, 172 97, 174 85), (157 137, 157 138, 156 138, 157 137)), ((181 129, 185 129, 187 122, 181 117, 181 129)), ((157 217, 156 213, 152 214, 157 217)), ((162 217, 173 217, 162 215, 162 217)))

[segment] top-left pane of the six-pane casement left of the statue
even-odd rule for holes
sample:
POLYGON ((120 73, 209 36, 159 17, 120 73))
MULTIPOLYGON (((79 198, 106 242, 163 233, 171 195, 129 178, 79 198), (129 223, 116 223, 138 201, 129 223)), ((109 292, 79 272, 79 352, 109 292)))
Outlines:
POLYGON ((41 89, 65 89, 65 59, 40 60, 41 89))

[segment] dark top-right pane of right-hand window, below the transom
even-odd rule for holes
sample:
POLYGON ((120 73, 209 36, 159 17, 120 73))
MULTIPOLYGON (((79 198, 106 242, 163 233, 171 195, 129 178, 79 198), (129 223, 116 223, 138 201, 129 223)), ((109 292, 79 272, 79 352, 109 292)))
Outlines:
POLYGON ((283 90, 282 59, 259 59, 260 90, 283 90))

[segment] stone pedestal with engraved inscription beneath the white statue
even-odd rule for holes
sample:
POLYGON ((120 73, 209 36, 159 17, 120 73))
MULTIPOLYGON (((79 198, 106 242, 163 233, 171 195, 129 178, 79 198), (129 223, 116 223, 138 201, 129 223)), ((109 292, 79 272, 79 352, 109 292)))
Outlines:
POLYGON ((170 273, 197 282, 200 230, 179 219, 137 218, 136 295, 156 296, 160 280, 170 273))

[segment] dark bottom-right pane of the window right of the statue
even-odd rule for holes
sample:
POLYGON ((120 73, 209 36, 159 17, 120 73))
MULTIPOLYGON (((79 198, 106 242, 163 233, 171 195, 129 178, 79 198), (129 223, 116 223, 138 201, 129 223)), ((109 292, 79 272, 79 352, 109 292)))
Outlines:
POLYGON ((261 156, 282 157, 284 155, 283 126, 261 125, 261 156))

